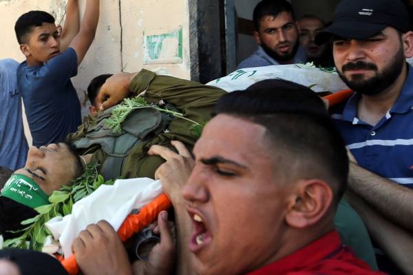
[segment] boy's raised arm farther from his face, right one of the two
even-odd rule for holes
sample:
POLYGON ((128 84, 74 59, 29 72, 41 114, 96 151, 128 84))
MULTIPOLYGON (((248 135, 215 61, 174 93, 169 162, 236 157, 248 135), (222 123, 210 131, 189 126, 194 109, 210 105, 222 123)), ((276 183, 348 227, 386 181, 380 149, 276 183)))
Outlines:
POLYGON ((99 0, 87 0, 85 14, 81 22, 81 30, 74 37, 69 47, 74 48, 80 64, 96 34, 99 21, 99 0))

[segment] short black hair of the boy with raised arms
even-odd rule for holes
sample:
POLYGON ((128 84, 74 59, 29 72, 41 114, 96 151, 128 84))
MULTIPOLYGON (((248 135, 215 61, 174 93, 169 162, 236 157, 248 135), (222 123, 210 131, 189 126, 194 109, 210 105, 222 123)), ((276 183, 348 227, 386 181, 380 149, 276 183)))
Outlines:
POLYGON ((16 32, 19 44, 27 43, 25 35, 32 32, 33 28, 40 27, 43 23, 54 23, 52 14, 43 10, 32 10, 21 15, 14 25, 14 32, 16 32))

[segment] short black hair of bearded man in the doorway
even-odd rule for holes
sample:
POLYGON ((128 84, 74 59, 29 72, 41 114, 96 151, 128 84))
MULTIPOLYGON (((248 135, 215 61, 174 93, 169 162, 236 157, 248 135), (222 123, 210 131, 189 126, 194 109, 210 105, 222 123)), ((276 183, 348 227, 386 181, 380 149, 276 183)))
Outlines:
POLYGON ((254 8, 253 12, 253 22, 254 22, 254 29, 256 31, 260 30, 260 22, 262 17, 271 16, 277 17, 277 15, 281 12, 288 12, 295 20, 295 14, 293 10, 293 6, 286 0, 262 0, 260 3, 257 3, 257 6, 254 8))

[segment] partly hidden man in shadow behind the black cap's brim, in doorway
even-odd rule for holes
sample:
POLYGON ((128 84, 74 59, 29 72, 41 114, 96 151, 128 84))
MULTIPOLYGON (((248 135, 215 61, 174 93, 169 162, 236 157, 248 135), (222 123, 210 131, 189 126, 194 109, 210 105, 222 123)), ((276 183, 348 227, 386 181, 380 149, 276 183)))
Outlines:
POLYGON ((334 67, 332 60, 331 44, 317 45, 315 37, 324 30, 326 23, 315 15, 305 15, 297 21, 299 28, 299 43, 306 50, 307 59, 314 65, 323 68, 334 67))

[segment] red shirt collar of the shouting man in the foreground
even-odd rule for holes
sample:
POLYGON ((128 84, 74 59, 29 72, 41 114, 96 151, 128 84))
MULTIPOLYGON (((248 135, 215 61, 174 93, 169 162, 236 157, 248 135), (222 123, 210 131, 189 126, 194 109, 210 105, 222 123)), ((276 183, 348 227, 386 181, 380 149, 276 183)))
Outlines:
POLYGON ((326 258, 341 252, 341 238, 337 231, 332 231, 317 241, 299 249, 297 252, 257 269, 247 275, 286 274, 305 269, 326 258))

